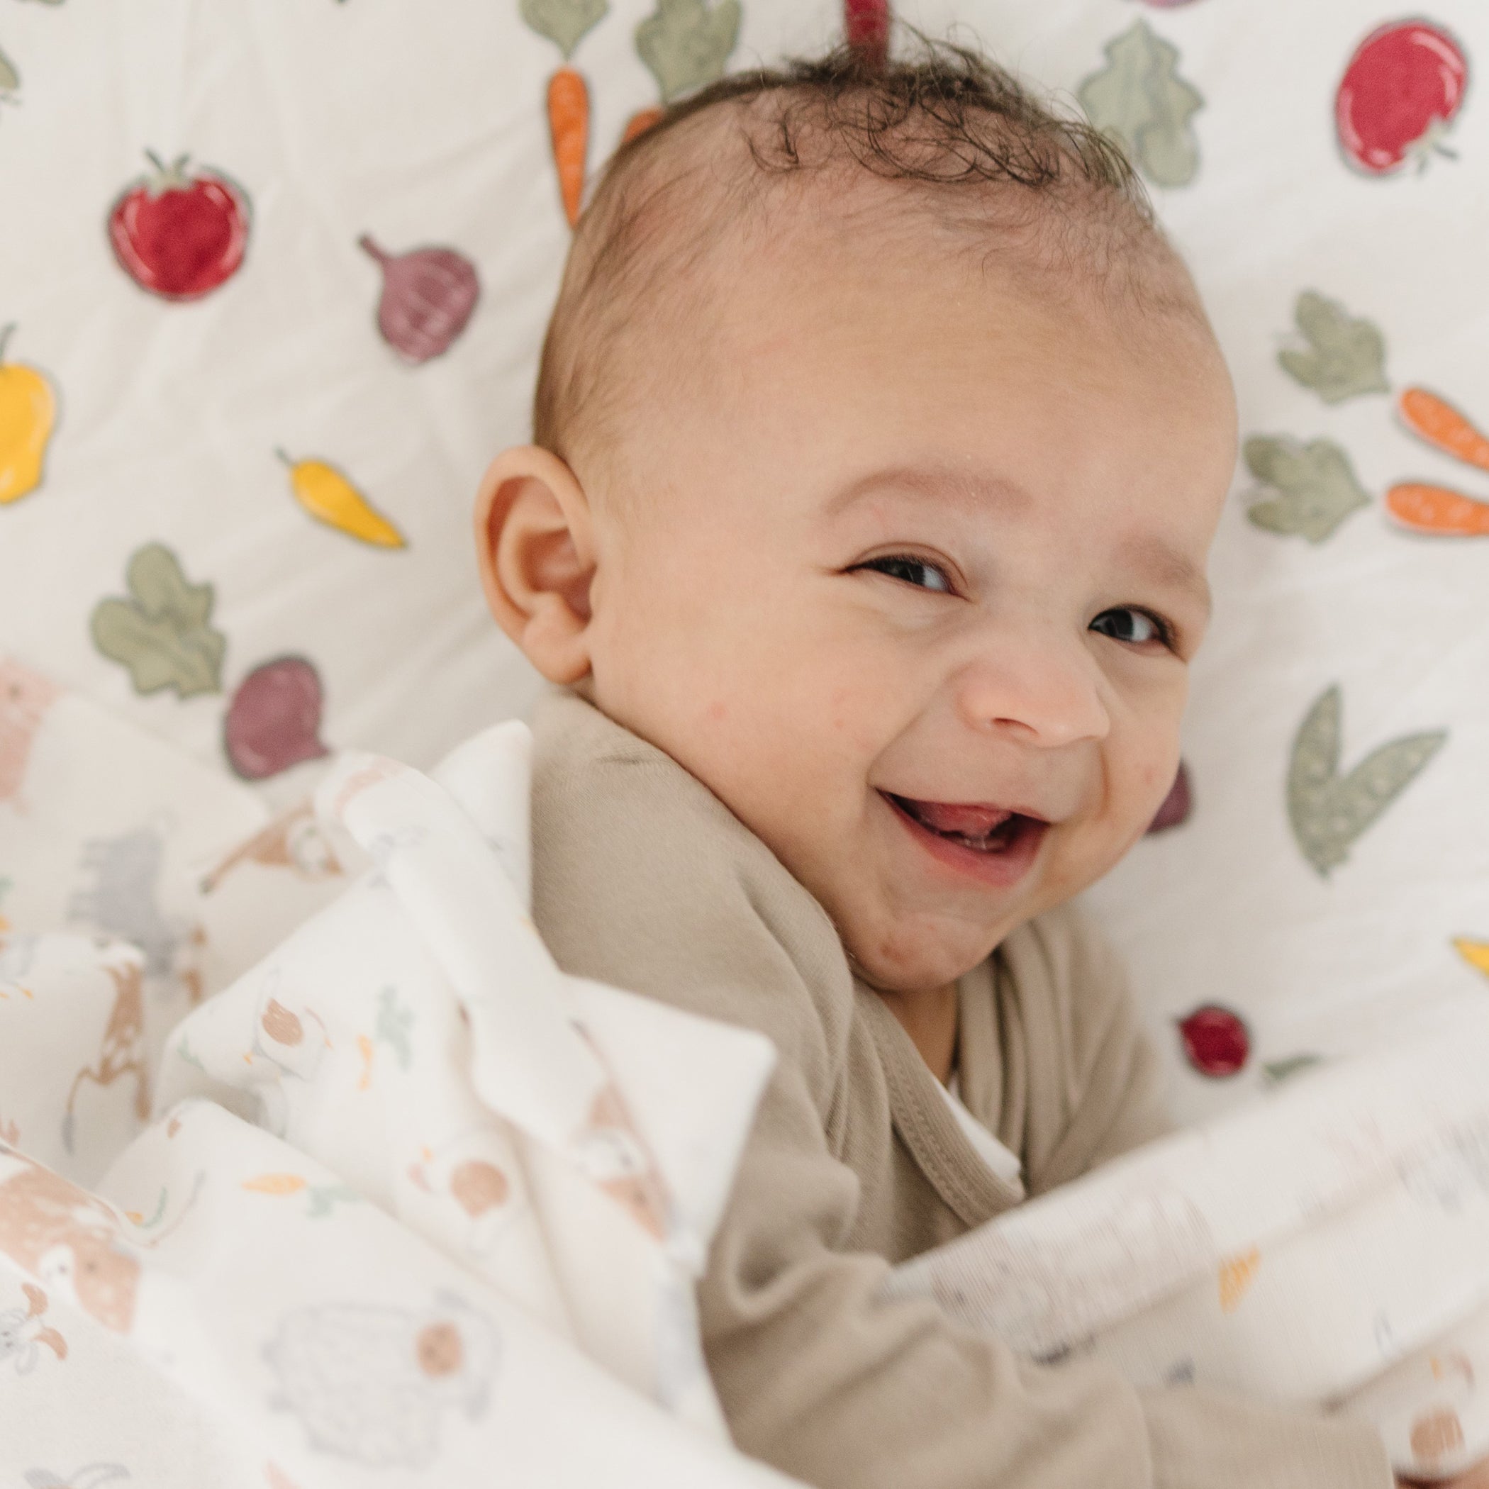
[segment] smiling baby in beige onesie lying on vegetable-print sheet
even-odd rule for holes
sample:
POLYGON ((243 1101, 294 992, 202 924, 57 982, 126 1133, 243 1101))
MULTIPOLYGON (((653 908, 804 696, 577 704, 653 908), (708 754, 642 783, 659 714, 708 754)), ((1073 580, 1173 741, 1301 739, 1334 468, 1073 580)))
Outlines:
POLYGON ((879 1295, 1167 1130, 1069 901, 1173 782, 1234 457, 1120 150, 974 54, 727 79, 579 223, 476 520, 557 685, 533 914, 566 971, 776 1044, 700 1310, 736 1441, 809 1483, 1392 1483, 1359 1423, 879 1295))

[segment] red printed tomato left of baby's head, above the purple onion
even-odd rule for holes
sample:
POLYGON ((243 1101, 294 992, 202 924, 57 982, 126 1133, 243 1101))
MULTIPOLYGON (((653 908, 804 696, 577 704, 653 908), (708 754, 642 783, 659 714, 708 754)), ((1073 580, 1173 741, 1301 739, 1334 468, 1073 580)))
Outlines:
POLYGON ((188 170, 149 155, 153 174, 128 186, 109 211, 119 267, 161 299, 201 299, 238 271, 252 210, 243 188, 216 170, 188 170))

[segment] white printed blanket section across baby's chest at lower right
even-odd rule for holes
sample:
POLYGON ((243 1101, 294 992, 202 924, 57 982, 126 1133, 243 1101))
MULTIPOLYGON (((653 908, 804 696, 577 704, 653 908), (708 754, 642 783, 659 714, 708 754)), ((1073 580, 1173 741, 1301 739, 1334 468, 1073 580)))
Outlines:
POLYGON ((1377 1425, 1403 1474, 1489 1453, 1489 1001, 1298 1077, 899 1267, 1035 1358, 1377 1425))

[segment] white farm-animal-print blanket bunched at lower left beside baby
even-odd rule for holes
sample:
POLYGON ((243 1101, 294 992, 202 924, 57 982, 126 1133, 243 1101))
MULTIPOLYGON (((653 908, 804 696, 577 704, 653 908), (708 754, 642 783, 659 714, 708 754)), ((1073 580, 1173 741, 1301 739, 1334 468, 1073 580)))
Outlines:
MULTIPOLYGON (((54 706, 28 786, 95 764, 98 722, 54 706)), ((162 846, 191 773, 133 743, 161 937, 0 934, 0 1479, 783 1485, 730 1446, 692 1315, 773 1053, 558 972, 526 725, 438 782, 344 756, 238 847, 201 852, 244 813, 200 800, 195 856, 162 846), (310 895, 283 940, 277 880, 310 895), (267 953, 220 990, 219 940, 267 953)))

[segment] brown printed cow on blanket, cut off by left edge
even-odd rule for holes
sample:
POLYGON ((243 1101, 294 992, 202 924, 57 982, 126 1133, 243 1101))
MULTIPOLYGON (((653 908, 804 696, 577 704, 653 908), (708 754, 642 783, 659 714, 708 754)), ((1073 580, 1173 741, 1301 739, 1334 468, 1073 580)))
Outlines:
POLYGON ((140 1264, 119 1246, 119 1221, 103 1200, 13 1150, 22 1167, 0 1182, 0 1254, 33 1278, 70 1291, 104 1328, 134 1322, 140 1264))

